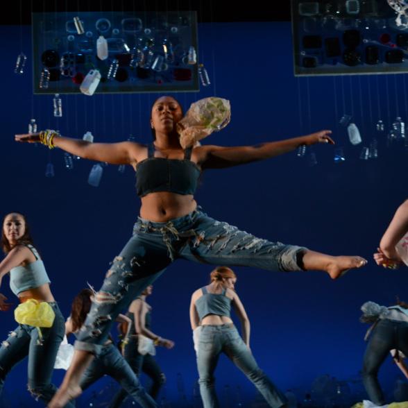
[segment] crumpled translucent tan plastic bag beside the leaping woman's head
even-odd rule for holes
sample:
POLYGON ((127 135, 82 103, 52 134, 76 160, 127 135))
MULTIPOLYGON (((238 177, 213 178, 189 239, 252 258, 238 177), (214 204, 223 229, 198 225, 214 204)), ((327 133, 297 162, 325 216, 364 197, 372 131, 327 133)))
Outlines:
POLYGON ((177 124, 182 148, 194 146, 213 132, 225 128, 231 119, 230 101, 211 96, 192 103, 177 124))

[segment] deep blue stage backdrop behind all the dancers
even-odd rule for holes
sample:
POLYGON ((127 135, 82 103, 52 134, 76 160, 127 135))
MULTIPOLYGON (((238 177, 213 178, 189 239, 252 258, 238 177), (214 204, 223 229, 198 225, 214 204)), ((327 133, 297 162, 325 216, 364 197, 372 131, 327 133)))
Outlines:
MULTIPOLYGON (((118 142, 135 136, 150 140, 149 114, 156 94, 62 95, 63 117, 54 118, 53 96, 33 96, 31 33, 2 26, 1 62, 1 214, 24 212, 52 280, 53 294, 68 316, 71 300, 87 282, 98 288, 108 264, 130 236, 139 201, 135 175, 116 166, 104 169, 98 188, 87 184, 92 162, 78 160, 64 167, 62 152, 44 146, 17 144, 15 133, 26 133, 28 122, 56 128, 62 135, 82 137, 91 130, 96 142, 118 142), (20 40, 22 38, 22 46, 20 40), (20 51, 28 56, 24 75, 13 72, 20 51), (51 161, 55 177, 44 176, 51 161)), ((386 148, 379 140, 377 160, 359 160, 360 146, 348 142, 337 125, 343 114, 354 114, 364 145, 375 133, 375 122, 386 128, 399 113, 407 115, 405 76, 295 78, 289 23, 230 23, 199 25, 199 58, 212 85, 199 93, 174 94, 187 110, 205 96, 221 96, 232 105, 232 121, 205 143, 257 144, 331 128, 346 161, 334 164, 333 146, 316 146, 318 164, 289 153, 223 171, 207 171, 197 201, 215 219, 254 235, 304 245, 333 255, 362 255, 368 265, 332 281, 324 273, 271 273, 236 268, 237 292, 252 323, 251 345, 260 366, 282 389, 309 391, 318 375, 339 380, 358 377, 366 326, 359 307, 366 300, 389 305, 396 295, 407 298, 406 269, 384 270, 372 254, 396 207, 406 198, 407 156, 402 146, 386 148), (378 91, 378 92, 377 92, 378 91), (378 95, 378 96, 377 96, 378 95)), ((177 398, 181 373, 189 398, 196 380, 196 362, 189 327, 189 299, 203 286, 210 266, 178 261, 155 283, 149 298, 153 330, 173 339, 173 350, 158 350, 166 373, 167 398, 177 398)), ((8 279, 1 292, 13 302, 8 279)), ((15 326, 12 312, 1 314, 1 337, 15 326)), ((396 376, 389 362, 381 378, 388 389, 396 376)), ((56 372, 60 383, 62 372, 56 372)), ((219 389, 239 384, 255 391, 227 359, 216 372, 219 389)), ((26 364, 9 375, 3 405, 19 396, 32 404, 26 389, 26 364)), ((95 389, 98 389, 98 385, 95 389)), ((85 397, 84 397, 85 400, 85 397)), ((13 407, 15 405, 12 405, 13 407)), ((28 405, 27 405, 28 406, 28 405)))

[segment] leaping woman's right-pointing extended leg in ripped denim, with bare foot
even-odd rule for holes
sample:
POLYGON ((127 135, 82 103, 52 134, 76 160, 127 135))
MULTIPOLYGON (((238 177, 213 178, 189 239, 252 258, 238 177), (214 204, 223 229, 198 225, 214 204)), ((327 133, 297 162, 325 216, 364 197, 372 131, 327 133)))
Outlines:
POLYGON ((305 247, 271 242, 200 213, 192 224, 194 237, 180 250, 188 260, 226 266, 253 266, 269 271, 325 271, 339 278, 366 260, 358 256, 331 256, 305 247))

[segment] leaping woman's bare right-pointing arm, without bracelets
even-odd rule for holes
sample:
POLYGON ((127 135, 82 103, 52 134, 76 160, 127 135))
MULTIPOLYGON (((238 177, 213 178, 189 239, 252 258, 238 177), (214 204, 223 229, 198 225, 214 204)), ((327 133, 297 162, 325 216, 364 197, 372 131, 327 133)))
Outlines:
POLYGON ((200 146, 194 151, 199 156, 198 164, 201 165, 202 169, 222 169, 273 158, 294 151, 302 145, 334 144, 333 139, 330 137, 331 133, 331 130, 321 130, 312 133, 312 135, 294 137, 278 142, 267 142, 256 146, 200 146))

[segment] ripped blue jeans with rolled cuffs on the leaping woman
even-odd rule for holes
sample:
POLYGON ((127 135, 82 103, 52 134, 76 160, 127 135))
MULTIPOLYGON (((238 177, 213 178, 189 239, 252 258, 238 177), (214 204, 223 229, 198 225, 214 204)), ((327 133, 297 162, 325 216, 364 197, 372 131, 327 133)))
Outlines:
POLYGON ((299 271, 306 248, 260 239, 216 221, 198 207, 171 221, 138 219, 121 253, 114 258, 75 347, 97 353, 117 314, 178 258, 203 264, 253 266, 299 271))

